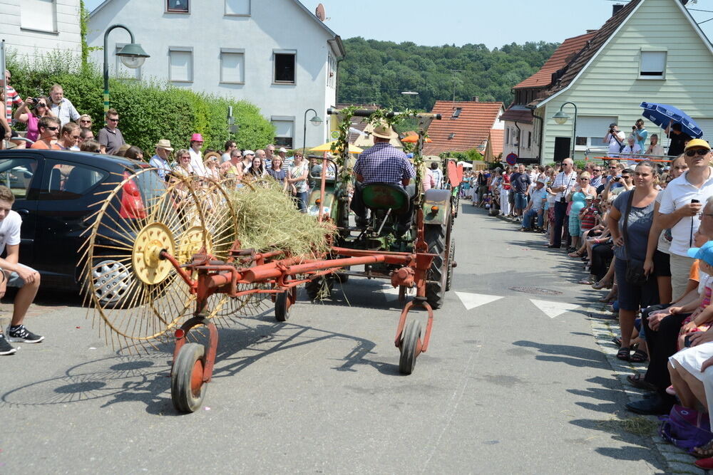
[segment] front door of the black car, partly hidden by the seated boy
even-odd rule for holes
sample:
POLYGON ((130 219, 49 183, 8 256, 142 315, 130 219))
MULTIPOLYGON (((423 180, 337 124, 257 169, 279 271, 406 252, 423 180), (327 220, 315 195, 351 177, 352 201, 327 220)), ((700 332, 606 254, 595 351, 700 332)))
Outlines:
POLYGON ((20 262, 35 266, 37 196, 42 175, 42 157, 29 151, 0 155, 0 184, 8 187, 15 202, 12 209, 22 218, 20 262))

